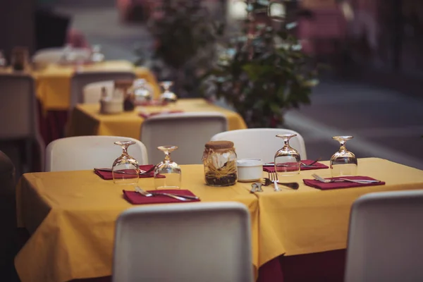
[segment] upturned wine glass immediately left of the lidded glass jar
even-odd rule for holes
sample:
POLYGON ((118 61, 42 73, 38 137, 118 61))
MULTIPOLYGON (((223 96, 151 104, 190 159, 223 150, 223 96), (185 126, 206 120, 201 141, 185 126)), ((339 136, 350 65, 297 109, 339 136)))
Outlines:
POLYGON ((171 152, 178 149, 176 146, 157 147, 164 152, 164 161, 154 168, 154 186, 160 189, 180 189, 180 166, 171 160, 171 152))

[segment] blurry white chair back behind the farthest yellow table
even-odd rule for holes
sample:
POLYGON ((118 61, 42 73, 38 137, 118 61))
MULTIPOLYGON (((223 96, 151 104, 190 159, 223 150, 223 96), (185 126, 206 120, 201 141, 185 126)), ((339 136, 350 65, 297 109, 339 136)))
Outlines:
MULTIPOLYGON (((32 62, 36 64, 58 63, 62 58, 65 47, 40 49, 32 56, 32 62)), ((91 51, 87 48, 72 48, 75 58, 90 59, 91 51)))

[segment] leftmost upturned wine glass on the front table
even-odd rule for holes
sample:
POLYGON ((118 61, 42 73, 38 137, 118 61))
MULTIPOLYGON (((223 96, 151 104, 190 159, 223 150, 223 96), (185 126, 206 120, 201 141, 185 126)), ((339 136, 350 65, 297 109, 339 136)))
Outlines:
POLYGON ((128 154, 128 147, 134 145, 134 141, 116 141, 115 145, 122 147, 121 157, 113 163, 111 173, 116 184, 135 185, 140 178, 140 166, 136 159, 128 154))

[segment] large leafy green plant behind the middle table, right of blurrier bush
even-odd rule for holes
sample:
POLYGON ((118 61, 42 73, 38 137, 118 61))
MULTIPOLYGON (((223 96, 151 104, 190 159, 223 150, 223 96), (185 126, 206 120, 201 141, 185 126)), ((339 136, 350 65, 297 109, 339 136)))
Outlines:
POLYGON ((269 13, 276 1, 243 2, 247 16, 241 35, 219 51, 202 92, 223 97, 250 128, 278 127, 288 109, 309 104, 317 72, 291 32, 295 23, 269 13))

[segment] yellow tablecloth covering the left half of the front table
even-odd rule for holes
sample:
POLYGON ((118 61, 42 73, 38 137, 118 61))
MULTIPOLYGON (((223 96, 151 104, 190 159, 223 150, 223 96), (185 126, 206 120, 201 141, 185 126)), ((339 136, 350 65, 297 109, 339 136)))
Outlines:
MULTIPOLYGON (((204 184, 202 165, 181 166, 183 189, 202 202, 236 201, 247 206, 252 221, 252 257, 258 268, 257 198, 243 185, 212 188, 204 184)), ((147 190, 153 178, 140 179, 147 190)), ((110 276, 117 216, 134 207, 122 187, 93 171, 27 173, 17 193, 18 226, 32 234, 15 265, 21 281, 62 282, 110 276)))

